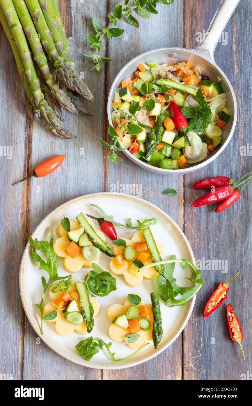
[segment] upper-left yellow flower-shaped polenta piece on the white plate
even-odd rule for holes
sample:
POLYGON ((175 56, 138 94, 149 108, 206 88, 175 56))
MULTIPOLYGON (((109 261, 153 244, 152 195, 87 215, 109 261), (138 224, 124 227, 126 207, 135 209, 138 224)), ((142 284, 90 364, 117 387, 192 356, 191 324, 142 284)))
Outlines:
MULTIPOLYGON (((91 220, 88 220, 88 222, 94 228, 93 222, 91 220)), ((70 221, 70 225, 70 231, 80 229, 80 224, 78 223, 78 221, 70 221)), ((104 234, 100 230, 95 230, 95 232, 99 235, 100 238, 102 238, 102 240, 105 239, 104 234)), ((71 273, 78 272, 83 267, 92 268, 92 263, 99 262, 99 258, 93 261, 88 261, 83 257, 81 253, 75 258, 71 258, 70 255, 68 255, 68 253, 66 252, 66 248, 70 244, 67 231, 62 227, 61 224, 59 224, 56 229, 56 233, 59 238, 55 240, 53 248, 58 258, 64 258, 63 265, 66 271, 71 273)))

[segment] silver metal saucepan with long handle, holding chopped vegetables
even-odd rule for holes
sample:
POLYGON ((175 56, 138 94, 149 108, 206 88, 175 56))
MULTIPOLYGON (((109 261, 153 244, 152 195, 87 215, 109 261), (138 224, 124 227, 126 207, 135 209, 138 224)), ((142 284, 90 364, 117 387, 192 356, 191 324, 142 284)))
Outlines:
POLYGON ((221 83, 224 92, 227 95, 227 108, 231 113, 231 118, 229 122, 222 129, 222 143, 214 149, 213 152, 209 153, 208 157, 197 164, 188 165, 185 168, 177 170, 161 169, 154 166, 148 165, 141 160, 135 158, 129 151, 123 151, 127 157, 135 162, 137 165, 141 166, 148 171, 161 173, 162 175, 170 174, 182 174, 196 171, 203 166, 208 165, 212 162, 218 155, 227 147, 227 144, 231 140, 233 132, 235 130, 235 124, 237 120, 237 103, 235 98, 235 93, 233 87, 229 82, 225 73, 216 65, 214 62, 214 50, 224 30, 227 22, 229 21, 231 15, 233 14, 239 0, 222 0, 218 10, 216 11, 210 27, 208 28, 205 37, 202 42, 193 50, 186 50, 184 48, 160 48, 153 51, 144 52, 141 55, 133 58, 116 76, 114 82, 112 83, 110 93, 108 96, 108 120, 110 125, 112 125, 111 112, 112 112, 112 99, 114 91, 120 86, 121 81, 129 76, 132 76, 133 72, 137 70, 140 63, 147 63, 151 60, 155 60, 158 64, 171 64, 174 65, 178 62, 184 60, 190 60, 193 66, 201 66, 202 74, 210 77, 211 80, 218 81, 221 83))

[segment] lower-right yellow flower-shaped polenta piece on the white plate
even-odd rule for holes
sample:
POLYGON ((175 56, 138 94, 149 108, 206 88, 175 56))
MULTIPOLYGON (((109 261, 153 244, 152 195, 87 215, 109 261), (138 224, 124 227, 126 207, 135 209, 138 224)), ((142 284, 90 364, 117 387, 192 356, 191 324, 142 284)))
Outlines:
MULTIPOLYGON (((144 302, 141 302, 137 307, 139 308, 142 306, 144 302)), ((108 308, 108 318, 112 322, 116 317, 120 316, 121 314, 125 314, 126 311, 129 309, 132 303, 126 298, 123 302, 123 306, 121 304, 112 304, 108 308)), ((146 316, 146 319, 150 322, 150 327, 148 330, 140 330, 137 332, 139 334, 139 338, 134 343, 128 343, 126 340, 126 344, 129 348, 133 350, 138 350, 138 348, 142 347, 146 341, 152 340, 152 328, 153 328, 153 314, 152 314, 152 305, 147 304, 148 308, 150 309, 150 314, 146 316)), ((116 324, 112 323, 110 328, 108 329, 108 334, 113 341, 123 341, 126 334, 129 334, 129 328, 122 328, 116 326, 116 324)))

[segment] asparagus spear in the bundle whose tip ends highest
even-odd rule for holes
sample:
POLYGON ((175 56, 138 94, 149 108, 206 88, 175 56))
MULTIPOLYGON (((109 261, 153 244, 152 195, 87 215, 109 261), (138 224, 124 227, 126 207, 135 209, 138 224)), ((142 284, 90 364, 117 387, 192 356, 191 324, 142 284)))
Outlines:
POLYGON ((25 3, 30 11, 34 25, 38 34, 40 35, 41 43, 44 47, 44 50, 47 52, 47 55, 53 62, 55 67, 55 72, 59 80, 64 83, 68 89, 74 90, 74 84, 72 81, 72 73, 70 68, 70 62, 66 66, 64 62, 63 54, 60 54, 53 39, 51 37, 51 32, 47 26, 47 23, 44 19, 44 15, 38 3, 38 0, 25 0, 25 3))

